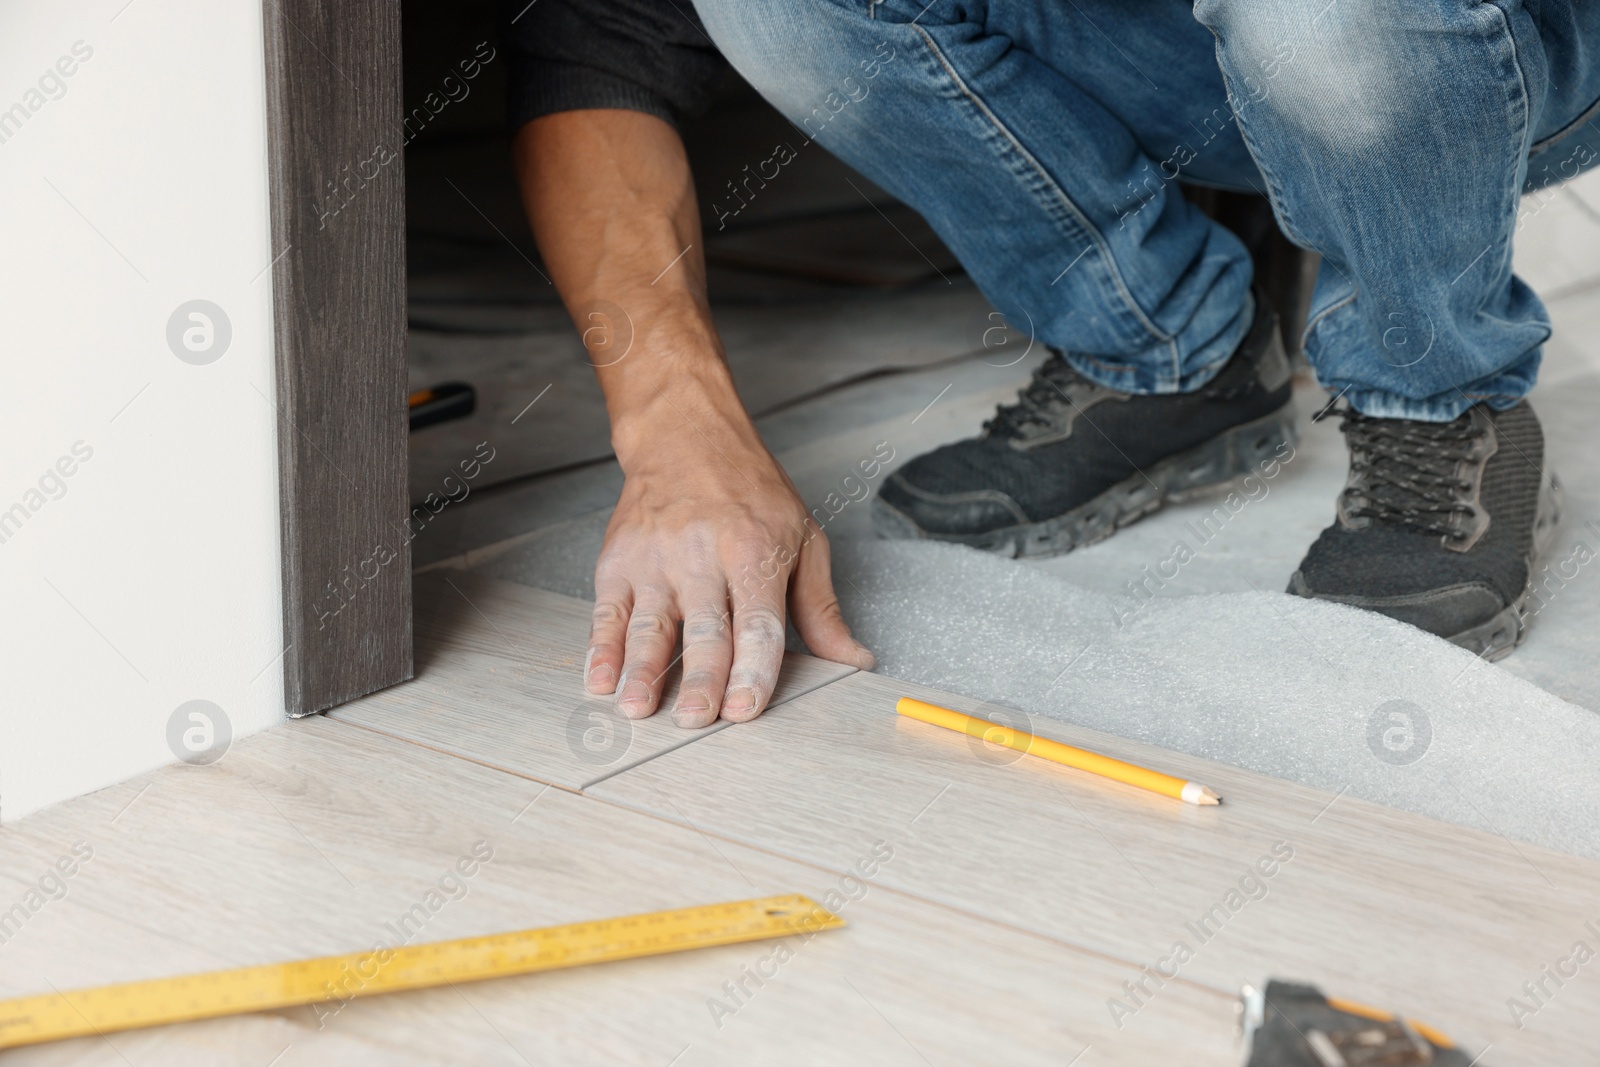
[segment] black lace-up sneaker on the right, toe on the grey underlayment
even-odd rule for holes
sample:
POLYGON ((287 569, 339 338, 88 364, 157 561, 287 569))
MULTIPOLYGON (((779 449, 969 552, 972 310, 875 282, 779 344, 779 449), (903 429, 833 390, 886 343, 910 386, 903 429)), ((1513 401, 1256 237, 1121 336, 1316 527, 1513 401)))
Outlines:
POLYGON ((1454 422, 1344 411, 1339 518, 1290 592, 1379 611, 1499 659, 1528 632, 1528 579, 1560 520, 1528 402, 1454 422))

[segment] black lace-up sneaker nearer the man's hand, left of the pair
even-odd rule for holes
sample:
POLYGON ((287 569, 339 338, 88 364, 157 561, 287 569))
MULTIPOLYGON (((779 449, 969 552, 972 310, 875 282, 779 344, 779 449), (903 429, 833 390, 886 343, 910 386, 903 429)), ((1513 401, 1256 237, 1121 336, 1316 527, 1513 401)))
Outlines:
POLYGON ((885 480, 872 502, 878 534, 1056 555, 1283 459, 1296 438, 1290 363, 1277 314, 1259 294, 1254 302, 1234 357, 1192 394, 1117 392, 1051 354, 982 435, 885 480))

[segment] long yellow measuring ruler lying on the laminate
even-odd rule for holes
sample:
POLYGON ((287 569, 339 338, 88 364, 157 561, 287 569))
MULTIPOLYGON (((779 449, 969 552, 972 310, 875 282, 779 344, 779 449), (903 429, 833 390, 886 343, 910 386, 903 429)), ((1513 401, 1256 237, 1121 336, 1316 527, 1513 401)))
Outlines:
POLYGON ((507 934, 0 1000, 0 1048, 294 1005, 731 945, 843 926, 806 896, 707 904, 507 934))

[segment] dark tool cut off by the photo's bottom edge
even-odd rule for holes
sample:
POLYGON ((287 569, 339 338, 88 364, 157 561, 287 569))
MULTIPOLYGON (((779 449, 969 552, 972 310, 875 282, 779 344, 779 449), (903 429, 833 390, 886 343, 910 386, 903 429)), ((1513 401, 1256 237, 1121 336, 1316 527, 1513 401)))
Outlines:
MULTIPOLYGON (((1454 1041, 1416 1019, 1323 997, 1315 985, 1245 985, 1245 1067, 1474 1067, 1454 1041)), ((1477 1064, 1482 1067, 1482 1064, 1477 1064)))

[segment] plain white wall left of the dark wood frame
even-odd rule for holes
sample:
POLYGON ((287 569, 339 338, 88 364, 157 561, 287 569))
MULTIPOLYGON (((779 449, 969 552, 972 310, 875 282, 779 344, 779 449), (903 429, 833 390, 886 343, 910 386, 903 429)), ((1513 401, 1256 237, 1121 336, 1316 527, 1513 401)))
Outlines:
POLYGON ((0 0, 0 821, 283 718, 269 243, 259 0, 0 0))

